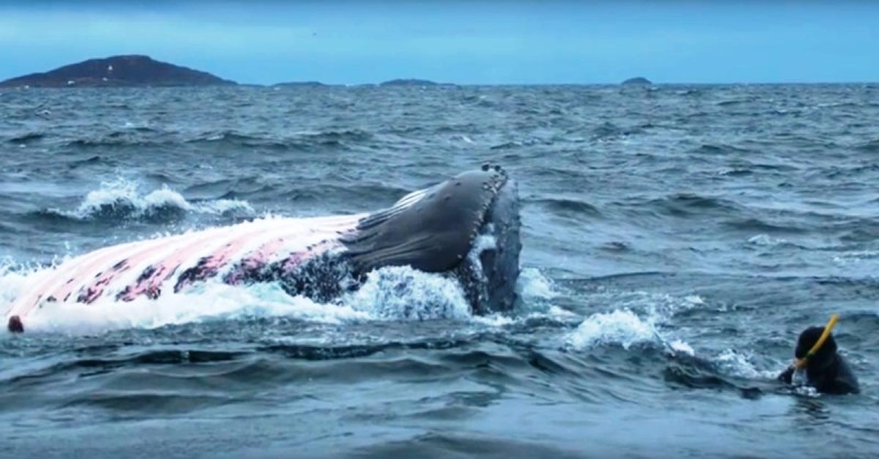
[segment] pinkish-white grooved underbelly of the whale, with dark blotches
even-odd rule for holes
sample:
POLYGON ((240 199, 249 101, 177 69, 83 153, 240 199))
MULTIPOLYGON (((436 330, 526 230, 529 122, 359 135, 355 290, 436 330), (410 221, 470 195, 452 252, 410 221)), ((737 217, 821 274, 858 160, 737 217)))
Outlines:
POLYGON ((235 283, 235 270, 248 266, 287 261, 293 269, 309 257, 342 249, 340 235, 365 215, 266 217, 104 247, 29 276, 5 317, 24 322, 64 303, 180 294, 211 278, 235 283))

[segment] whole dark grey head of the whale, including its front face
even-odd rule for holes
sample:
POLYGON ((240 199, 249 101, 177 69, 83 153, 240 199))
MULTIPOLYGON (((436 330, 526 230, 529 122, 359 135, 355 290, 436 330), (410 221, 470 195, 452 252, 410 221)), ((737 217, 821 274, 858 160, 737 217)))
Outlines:
POLYGON ((387 266, 449 273, 461 283, 474 313, 508 312, 518 293, 521 217, 516 182, 499 166, 483 165, 404 197, 363 219, 342 237, 355 276, 387 266), (480 235, 493 247, 468 254, 480 235))

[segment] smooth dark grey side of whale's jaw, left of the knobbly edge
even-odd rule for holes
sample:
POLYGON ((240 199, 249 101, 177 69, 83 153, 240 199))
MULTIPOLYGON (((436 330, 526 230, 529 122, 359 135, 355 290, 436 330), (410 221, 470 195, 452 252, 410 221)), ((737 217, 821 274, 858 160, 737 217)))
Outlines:
POLYGON ((364 217, 341 242, 358 273, 403 265, 449 271, 467 256, 504 183, 504 173, 496 169, 461 173, 364 217))

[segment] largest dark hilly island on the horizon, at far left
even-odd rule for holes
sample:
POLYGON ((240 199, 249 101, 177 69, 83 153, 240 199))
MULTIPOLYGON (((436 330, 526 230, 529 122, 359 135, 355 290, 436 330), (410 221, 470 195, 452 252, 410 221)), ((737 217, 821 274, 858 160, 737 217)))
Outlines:
POLYGON ((121 55, 88 59, 54 70, 24 75, 0 81, 0 88, 97 88, 97 87, 174 87, 234 86, 205 71, 155 60, 144 55, 121 55))

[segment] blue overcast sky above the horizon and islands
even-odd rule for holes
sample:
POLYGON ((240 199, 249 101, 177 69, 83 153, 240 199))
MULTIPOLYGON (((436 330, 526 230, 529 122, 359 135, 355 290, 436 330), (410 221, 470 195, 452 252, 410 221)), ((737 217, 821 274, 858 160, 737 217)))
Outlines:
POLYGON ((0 3, 0 80, 115 54, 245 83, 879 81, 879 1, 0 3))

